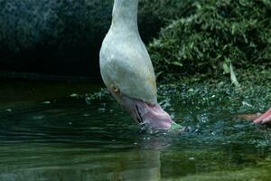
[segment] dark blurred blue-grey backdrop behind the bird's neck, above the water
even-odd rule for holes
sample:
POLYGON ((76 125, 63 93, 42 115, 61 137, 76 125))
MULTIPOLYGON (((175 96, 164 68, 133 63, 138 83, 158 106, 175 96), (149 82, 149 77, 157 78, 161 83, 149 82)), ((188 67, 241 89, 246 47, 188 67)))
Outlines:
MULTIPOLYGON (((163 24, 143 10, 148 2, 154 3, 140 2, 138 17, 145 43, 163 24)), ((0 74, 100 79, 98 52, 112 6, 113 0, 0 0, 0 74)))

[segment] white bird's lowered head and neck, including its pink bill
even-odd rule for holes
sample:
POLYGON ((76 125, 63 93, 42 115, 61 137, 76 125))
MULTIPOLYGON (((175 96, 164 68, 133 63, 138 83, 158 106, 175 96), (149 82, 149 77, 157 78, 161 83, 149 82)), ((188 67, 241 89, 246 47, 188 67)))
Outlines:
POLYGON ((115 0, 112 22, 99 52, 107 89, 141 127, 173 129, 157 103, 154 67, 137 27, 138 0, 115 0))

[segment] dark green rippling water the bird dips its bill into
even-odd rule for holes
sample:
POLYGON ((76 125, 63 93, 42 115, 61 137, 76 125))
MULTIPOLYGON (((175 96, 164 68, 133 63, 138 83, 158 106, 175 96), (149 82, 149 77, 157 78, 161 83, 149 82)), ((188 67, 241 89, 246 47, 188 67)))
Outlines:
POLYGON ((168 90, 192 131, 147 134, 101 87, 1 80, 0 180, 270 180, 271 130, 168 90))

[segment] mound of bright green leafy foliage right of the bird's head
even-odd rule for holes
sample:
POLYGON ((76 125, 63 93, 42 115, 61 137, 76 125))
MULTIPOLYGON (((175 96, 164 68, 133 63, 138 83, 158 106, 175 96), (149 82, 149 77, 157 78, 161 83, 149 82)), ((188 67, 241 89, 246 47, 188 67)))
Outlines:
POLYGON ((201 0, 192 6, 194 13, 174 20, 148 45, 158 76, 216 76, 229 73, 230 62, 244 69, 271 65, 270 0, 201 0))

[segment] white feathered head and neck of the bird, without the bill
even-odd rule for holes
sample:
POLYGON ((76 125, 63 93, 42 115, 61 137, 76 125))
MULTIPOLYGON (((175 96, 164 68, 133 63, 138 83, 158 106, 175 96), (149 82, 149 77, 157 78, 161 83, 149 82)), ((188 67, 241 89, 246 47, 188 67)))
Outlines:
POLYGON ((107 88, 117 86, 132 99, 155 104, 154 68, 137 28, 138 0, 115 0, 113 20, 100 50, 107 88))

